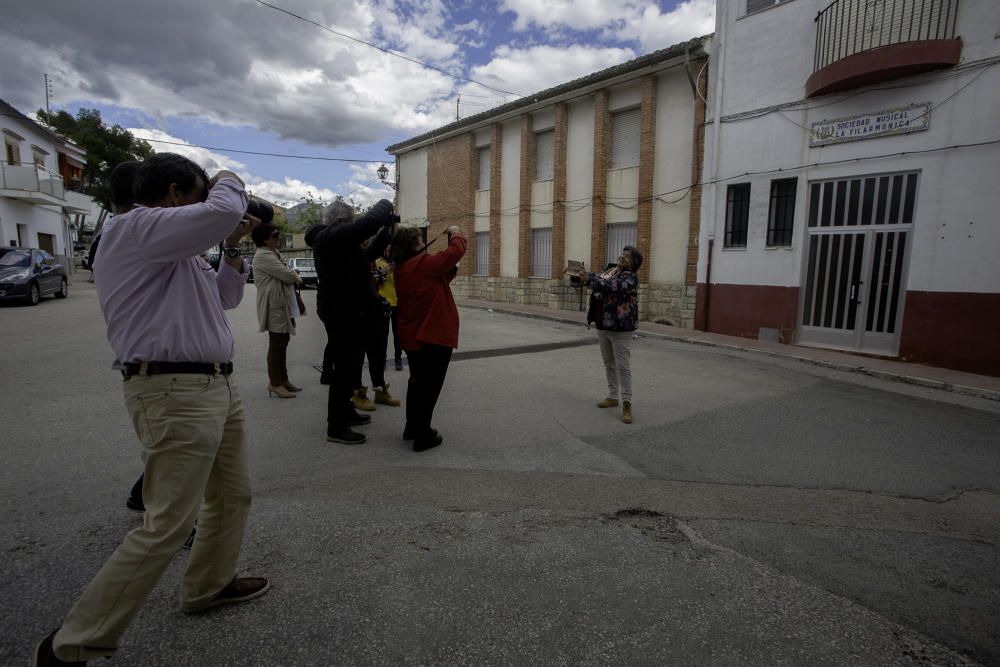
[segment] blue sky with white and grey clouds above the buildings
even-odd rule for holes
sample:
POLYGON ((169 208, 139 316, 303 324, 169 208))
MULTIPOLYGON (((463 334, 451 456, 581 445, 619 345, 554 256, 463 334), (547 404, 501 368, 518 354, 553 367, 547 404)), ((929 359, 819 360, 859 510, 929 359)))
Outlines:
POLYGON ((44 108, 48 74, 53 110, 97 108, 157 151, 234 169, 254 194, 368 203, 391 196, 375 176, 392 166, 386 146, 454 121, 456 108, 464 118, 711 33, 714 10, 715 0, 7 3, 0 97, 44 108))

